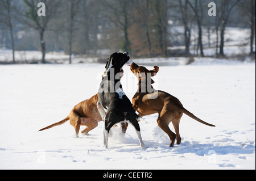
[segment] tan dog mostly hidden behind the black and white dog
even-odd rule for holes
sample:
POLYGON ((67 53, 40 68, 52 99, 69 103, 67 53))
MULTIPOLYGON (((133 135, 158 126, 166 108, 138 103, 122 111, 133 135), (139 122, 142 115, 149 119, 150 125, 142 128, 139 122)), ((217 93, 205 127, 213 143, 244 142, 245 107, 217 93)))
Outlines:
MULTIPOLYGON (((121 70, 123 73, 123 70, 121 70)), ((121 74, 123 77, 123 74, 121 74)), ((89 131, 96 128, 98 126, 98 121, 102 121, 100 112, 98 112, 97 108, 98 102, 98 94, 92 96, 90 99, 86 99, 83 102, 77 104, 73 110, 69 113, 69 116, 64 120, 49 125, 46 128, 40 129, 39 131, 44 131, 46 129, 56 127, 58 125, 66 123, 68 120, 70 124, 75 128, 76 136, 79 136, 80 126, 86 126, 86 128, 81 131, 82 134, 88 134, 89 131)), ((126 125, 122 125, 122 132, 125 133, 128 127, 128 123, 126 125)))

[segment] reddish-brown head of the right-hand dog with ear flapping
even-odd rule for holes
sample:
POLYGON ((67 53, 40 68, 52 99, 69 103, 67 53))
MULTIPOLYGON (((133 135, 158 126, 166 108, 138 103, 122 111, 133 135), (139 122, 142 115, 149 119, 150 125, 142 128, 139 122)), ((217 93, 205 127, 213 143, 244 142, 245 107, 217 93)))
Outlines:
MULTIPOLYGON (((139 82, 142 82, 142 81, 147 82, 148 78, 151 79, 151 77, 154 77, 156 73, 158 73, 159 71, 158 66, 154 66, 154 70, 148 70, 144 66, 139 66, 134 62, 133 64, 130 65, 130 69, 133 72, 133 74, 136 75, 139 82)), ((155 82, 151 79, 151 83, 155 83, 155 82)))

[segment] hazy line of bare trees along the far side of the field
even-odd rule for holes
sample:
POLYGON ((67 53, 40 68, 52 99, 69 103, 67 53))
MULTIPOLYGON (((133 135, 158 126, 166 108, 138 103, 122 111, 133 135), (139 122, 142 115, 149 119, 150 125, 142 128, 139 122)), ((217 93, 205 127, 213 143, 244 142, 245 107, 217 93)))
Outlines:
POLYGON ((255 53, 255 0, 0 0, 0 48, 41 50, 43 63, 46 52, 61 50, 70 62, 72 54, 95 56, 106 49, 134 57, 190 56, 193 34, 196 55, 211 46, 225 56, 228 26, 250 28, 255 53), (46 16, 38 16, 39 2, 46 16), (208 14, 210 2, 216 16, 208 14))

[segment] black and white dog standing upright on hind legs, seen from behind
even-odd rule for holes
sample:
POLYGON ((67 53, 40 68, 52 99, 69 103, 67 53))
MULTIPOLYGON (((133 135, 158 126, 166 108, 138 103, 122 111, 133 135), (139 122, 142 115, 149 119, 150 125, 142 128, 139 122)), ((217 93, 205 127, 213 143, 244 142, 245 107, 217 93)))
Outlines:
POLYGON ((135 113, 134 108, 122 90, 120 82, 123 65, 130 60, 129 53, 113 53, 106 62, 106 71, 98 90, 98 110, 101 114, 104 134, 104 145, 108 148, 108 134, 113 125, 126 122, 133 125, 138 134, 141 147, 144 144, 141 137, 141 129, 138 121, 140 117, 135 113), (106 113, 105 113, 106 112, 106 113))

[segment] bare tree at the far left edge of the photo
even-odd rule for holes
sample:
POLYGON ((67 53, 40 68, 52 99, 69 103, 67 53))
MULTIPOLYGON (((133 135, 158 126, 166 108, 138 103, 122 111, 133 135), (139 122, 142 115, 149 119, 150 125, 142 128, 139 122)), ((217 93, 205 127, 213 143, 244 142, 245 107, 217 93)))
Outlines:
POLYGON ((13 24, 11 20, 11 2, 12 0, 1 0, 0 1, 0 16, 1 23, 4 23, 10 30, 11 35, 11 47, 13 49, 13 64, 15 63, 15 44, 13 35, 13 24))

